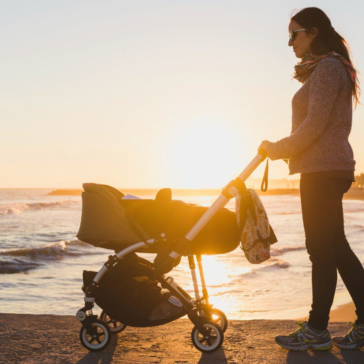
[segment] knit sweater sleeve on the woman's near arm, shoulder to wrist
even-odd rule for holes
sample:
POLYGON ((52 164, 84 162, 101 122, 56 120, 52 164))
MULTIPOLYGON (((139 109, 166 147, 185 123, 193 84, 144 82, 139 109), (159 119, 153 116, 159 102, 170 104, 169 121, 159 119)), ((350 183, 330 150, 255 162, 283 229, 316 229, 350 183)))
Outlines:
POLYGON ((342 83, 341 61, 321 60, 310 75, 307 116, 289 136, 269 149, 270 159, 290 159, 309 147, 324 131, 342 83))

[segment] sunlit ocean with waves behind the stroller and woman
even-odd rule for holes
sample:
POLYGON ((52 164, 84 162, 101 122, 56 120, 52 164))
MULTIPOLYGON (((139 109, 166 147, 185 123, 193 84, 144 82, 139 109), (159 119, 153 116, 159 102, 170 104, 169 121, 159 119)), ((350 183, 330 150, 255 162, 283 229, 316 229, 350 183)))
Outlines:
MULTIPOLYGON (((99 270, 113 254, 77 240, 81 197, 49 195, 51 191, 0 189, 0 312, 75 314, 83 306, 82 271, 99 270)), ((173 198, 210 206, 217 196, 173 198)), ((233 319, 308 316, 311 262, 305 250, 300 199, 297 195, 261 198, 278 238, 271 258, 250 264, 239 247, 227 254, 203 256, 210 302, 233 319)), ((233 210, 234 203, 233 199, 226 207, 233 210)), ((344 200, 344 221, 351 247, 364 262, 364 201, 344 200)), ((141 256, 154 259, 153 254, 141 256)), ((169 275, 193 295, 186 257, 169 275)), ((339 276, 333 308, 349 301, 339 276)))

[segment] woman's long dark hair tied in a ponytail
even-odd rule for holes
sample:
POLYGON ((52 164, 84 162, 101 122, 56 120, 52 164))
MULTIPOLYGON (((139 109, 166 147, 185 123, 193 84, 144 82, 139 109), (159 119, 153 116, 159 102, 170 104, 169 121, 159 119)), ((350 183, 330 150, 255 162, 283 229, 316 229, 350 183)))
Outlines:
MULTIPOLYGON (((310 32, 312 28, 316 28, 318 35, 311 43, 311 52, 313 54, 322 55, 326 52, 334 51, 350 62, 355 70, 355 81, 353 82, 353 99, 355 107, 359 102, 360 87, 357 73, 353 66, 353 62, 349 56, 351 50, 348 42, 332 27, 329 17, 319 8, 304 8, 291 17, 301 27, 310 32)), ((359 102, 360 103, 360 102, 359 102)))

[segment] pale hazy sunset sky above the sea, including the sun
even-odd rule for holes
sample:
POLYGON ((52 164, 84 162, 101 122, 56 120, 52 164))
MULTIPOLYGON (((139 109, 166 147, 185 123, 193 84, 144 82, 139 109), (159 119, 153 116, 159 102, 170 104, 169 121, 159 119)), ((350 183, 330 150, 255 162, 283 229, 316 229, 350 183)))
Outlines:
MULTIPOLYGON (((350 4, 0 1, 0 188, 225 186, 262 140, 290 134, 294 9, 323 9, 364 72, 364 2, 350 4)), ((359 105, 356 173, 363 122, 359 105)))

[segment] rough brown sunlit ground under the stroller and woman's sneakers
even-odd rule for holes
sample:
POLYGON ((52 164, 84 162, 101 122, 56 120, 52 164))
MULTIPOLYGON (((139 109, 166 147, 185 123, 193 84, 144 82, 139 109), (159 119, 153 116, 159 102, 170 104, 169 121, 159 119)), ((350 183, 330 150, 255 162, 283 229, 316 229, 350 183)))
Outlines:
MULTIPOLYGON (((114 335, 102 352, 80 345, 80 324, 74 316, 0 314, 2 364, 116 364, 116 363, 254 363, 359 364, 363 350, 333 349, 290 352, 274 343, 274 336, 292 331, 293 320, 231 320, 222 348, 202 354, 191 344, 189 320, 179 319, 155 328, 127 328, 114 335)), ((348 325, 329 324, 331 335, 347 332, 348 325)))

